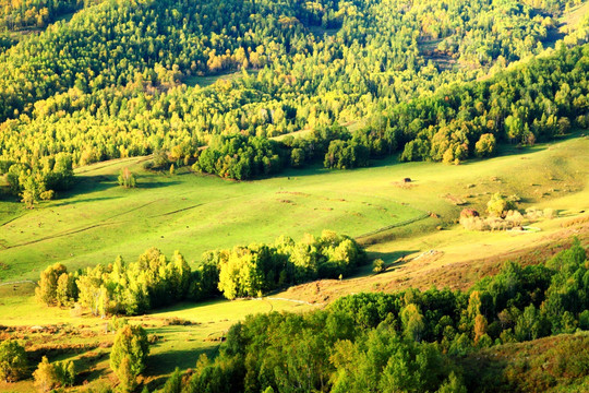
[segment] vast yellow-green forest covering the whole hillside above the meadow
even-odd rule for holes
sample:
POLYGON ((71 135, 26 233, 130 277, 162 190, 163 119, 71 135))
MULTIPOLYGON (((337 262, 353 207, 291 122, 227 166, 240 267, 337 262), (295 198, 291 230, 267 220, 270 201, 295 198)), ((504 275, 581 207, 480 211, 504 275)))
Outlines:
MULTIPOLYGON (((587 41, 589 21, 548 58, 461 82, 527 63, 575 4, 50 2, 55 13, 83 10, 17 44, 0 35, 0 174, 12 174, 11 190, 26 202, 57 191, 39 172, 68 177, 41 164, 58 154, 75 167, 164 152, 176 165, 245 179, 310 160, 365 166, 397 150, 407 160, 456 162, 488 155, 476 148, 486 134, 533 143, 587 124, 587 49, 566 47, 587 41), (240 76, 193 86, 199 75, 232 71, 240 76), (360 119, 364 130, 321 141, 318 151, 267 141, 360 119), (232 162, 224 138, 238 134, 248 141, 232 140, 245 145, 237 151, 249 153, 232 162)), ((4 7, 4 21, 44 9, 29 5, 4 7)))

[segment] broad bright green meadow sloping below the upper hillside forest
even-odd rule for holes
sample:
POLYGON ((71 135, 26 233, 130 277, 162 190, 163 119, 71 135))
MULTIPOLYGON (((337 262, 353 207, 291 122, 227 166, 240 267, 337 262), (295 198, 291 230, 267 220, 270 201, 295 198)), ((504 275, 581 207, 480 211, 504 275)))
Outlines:
POLYGON ((53 262, 82 267, 109 263, 117 254, 134 260, 148 247, 167 254, 180 250, 195 261, 209 249, 273 241, 283 234, 298 238, 326 228, 376 243, 370 251, 385 262, 436 245, 454 245, 456 252, 467 242, 477 252, 481 241, 516 247, 519 238, 505 233, 456 229, 421 236, 437 225, 452 225, 461 210, 452 200, 483 210, 497 191, 517 193, 522 207, 561 210, 561 216, 587 210, 588 147, 589 140, 578 138, 459 166, 378 162, 352 171, 312 168, 251 182, 146 174, 141 171, 144 158, 101 163, 79 170, 74 193, 39 209, 0 202, 0 281, 36 278, 39 269, 53 262), (140 172, 140 188, 117 186, 117 174, 125 166, 140 172), (408 187, 400 182, 405 177, 413 180, 408 187), (418 219, 428 212, 440 218, 418 219), (418 221, 362 237, 411 219, 418 221))

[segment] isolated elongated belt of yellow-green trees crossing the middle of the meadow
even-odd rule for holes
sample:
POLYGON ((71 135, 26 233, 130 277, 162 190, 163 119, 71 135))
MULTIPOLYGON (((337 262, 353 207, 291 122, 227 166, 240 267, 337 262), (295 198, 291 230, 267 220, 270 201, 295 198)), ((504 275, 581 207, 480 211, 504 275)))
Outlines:
POLYGON ((178 251, 168 260, 155 248, 135 262, 119 257, 109 265, 77 272, 57 263, 41 272, 35 295, 48 306, 77 303, 95 315, 135 315, 184 299, 253 297, 311 279, 347 276, 364 262, 365 253, 353 239, 324 230, 299 242, 283 236, 274 245, 208 251, 195 270, 178 251))

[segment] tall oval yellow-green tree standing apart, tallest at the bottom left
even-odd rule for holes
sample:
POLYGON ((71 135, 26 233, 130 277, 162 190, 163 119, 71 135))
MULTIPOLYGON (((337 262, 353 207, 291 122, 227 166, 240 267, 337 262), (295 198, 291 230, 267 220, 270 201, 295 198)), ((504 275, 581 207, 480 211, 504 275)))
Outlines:
POLYGON ((117 332, 110 352, 110 368, 121 382, 124 392, 135 389, 137 376, 145 368, 149 354, 147 333, 139 325, 124 325, 117 332))

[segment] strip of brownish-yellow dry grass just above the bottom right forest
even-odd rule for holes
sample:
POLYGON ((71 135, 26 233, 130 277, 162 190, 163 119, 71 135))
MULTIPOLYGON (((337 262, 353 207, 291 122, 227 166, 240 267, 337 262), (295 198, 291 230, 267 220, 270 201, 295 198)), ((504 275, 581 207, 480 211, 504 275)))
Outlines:
POLYGON ((526 238, 516 249, 492 253, 483 258, 472 254, 459 261, 444 259, 444 250, 404 255, 389 263, 383 274, 364 275, 350 279, 321 279, 291 287, 280 297, 312 303, 328 303, 335 299, 360 291, 395 291, 414 287, 428 289, 432 286, 452 289, 467 289, 481 277, 497 274, 506 261, 521 265, 539 264, 570 246, 577 237, 581 243, 589 243, 589 216, 569 219, 566 226, 555 233, 544 235, 533 243, 526 238))

